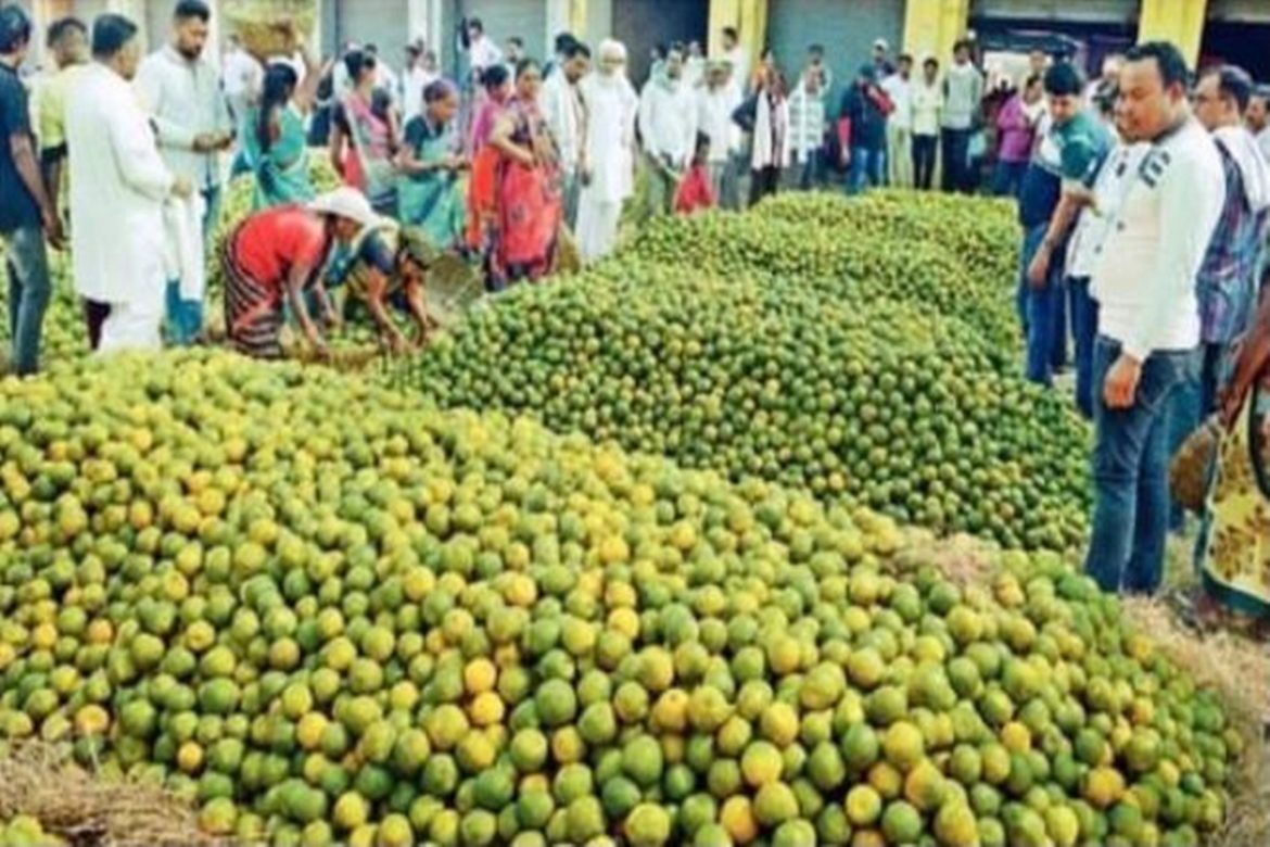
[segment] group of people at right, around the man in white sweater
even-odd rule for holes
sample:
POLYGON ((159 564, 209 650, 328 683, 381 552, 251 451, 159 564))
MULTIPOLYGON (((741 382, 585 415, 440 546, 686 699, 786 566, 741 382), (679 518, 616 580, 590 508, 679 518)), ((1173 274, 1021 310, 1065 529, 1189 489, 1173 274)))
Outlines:
POLYGON ((1170 528, 1170 460, 1215 415, 1241 447, 1210 469, 1195 559, 1201 617, 1270 615, 1270 135, 1242 69, 1193 79, 1172 44, 1029 76, 997 116, 994 188, 1017 197, 1025 373, 1050 386, 1072 344, 1093 420, 1086 569, 1154 593, 1170 528), (1260 303, 1260 305, 1259 305, 1260 303), (1247 425, 1245 419, 1250 418, 1247 425))

